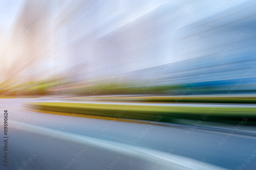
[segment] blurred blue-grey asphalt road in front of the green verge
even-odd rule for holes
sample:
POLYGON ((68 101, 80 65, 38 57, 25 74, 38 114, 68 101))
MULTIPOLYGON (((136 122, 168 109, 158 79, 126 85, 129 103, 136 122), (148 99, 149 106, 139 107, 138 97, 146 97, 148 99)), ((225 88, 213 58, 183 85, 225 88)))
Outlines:
MULTIPOLYGON (((3 111, 8 110, 9 136, 8 167, 2 169, 238 169, 242 164, 247 170, 256 167, 256 159, 251 156, 256 150, 254 127, 254 131, 236 131, 232 127, 202 126, 187 135, 189 125, 115 121, 105 128, 111 123, 109 120, 32 114, 22 109, 24 102, 46 99, 0 99, 1 121, 3 111), (59 133, 57 129, 61 128, 59 133), (231 130, 235 134, 220 147, 219 142, 231 130)), ((1 142, 0 147, 2 155, 1 142)))

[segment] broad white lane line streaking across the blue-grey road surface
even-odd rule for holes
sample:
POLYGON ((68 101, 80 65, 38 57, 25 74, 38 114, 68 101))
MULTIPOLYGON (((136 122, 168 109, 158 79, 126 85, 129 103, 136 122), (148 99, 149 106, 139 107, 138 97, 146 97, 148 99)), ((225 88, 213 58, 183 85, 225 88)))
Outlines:
MULTIPOLYGON (((19 122, 9 120, 9 124, 12 124, 10 127, 15 128, 15 126, 19 125, 19 122)), ((26 131, 30 133, 36 133, 44 136, 51 136, 56 130, 25 124, 21 129, 21 131, 26 131)), ((104 139, 98 139, 78 134, 73 134, 69 132, 61 132, 56 136, 56 138, 67 140, 71 142, 80 143, 82 145, 87 144, 90 147, 101 148, 104 150, 108 150, 111 152, 116 152, 126 156, 134 156, 135 158, 139 158, 149 164, 154 164, 157 161, 160 161, 160 158, 166 152, 157 151, 149 148, 138 147, 134 145, 129 145, 120 142, 108 141, 104 139)), ((174 148, 175 149, 175 148, 174 148)), ((194 160, 191 158, 187 158, 185 156, 180 156, 176 154, 169 154, 169 156, 161 162, 162 166, 164 166, 163 170, 169 170, 170 168, 176 170, 191 170, 195 165, 197 165, 200 161, 194 160)), ((226 168, 218 167, 209 163, 205 163, 200 167, 200 170, 228 170, 226 168)))

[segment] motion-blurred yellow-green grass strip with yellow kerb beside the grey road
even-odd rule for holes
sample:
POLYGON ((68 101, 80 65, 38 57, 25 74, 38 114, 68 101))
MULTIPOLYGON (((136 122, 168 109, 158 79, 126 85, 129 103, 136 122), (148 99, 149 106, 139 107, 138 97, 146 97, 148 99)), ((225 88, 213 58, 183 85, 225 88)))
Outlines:
MULTIPOLYGON (((28 103, 30 109, 39 103, 28 103)), ((40 108, 42 111, 76 113, 94 116, 116 117, 124 119, 154 121, 161 114, 161 122, 180 122, 180 120, 207 121, 217 123, 238 124, 243 117, 249 119, 247 125, 256 125, 255 108, 249 107, 184 107, 184 106, 141 106, 125 104, 87 104, 47 102, 40 108), (122 113, 123 112, 123 113, 122 113), (121 113, 121 114, 120 114, 121 113)), ((214 105, 213 105, 214 106, 214 105)))

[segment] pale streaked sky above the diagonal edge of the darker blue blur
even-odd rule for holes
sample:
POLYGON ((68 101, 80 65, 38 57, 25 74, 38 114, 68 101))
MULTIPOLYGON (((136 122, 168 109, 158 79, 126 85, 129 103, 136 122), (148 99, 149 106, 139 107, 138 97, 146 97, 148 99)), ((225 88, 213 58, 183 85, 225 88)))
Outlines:
MULTIPOLYGON (((95 81, 116 70, 127 73, 192 58, 207 58, 222 52, 242 31, 251 35, 246 36, 229 55, 254 52, 254 12, 250 7, 255 3, 249 0, 234 1, 230 7, 227 6, 230 1, 220 0, 150 0, 144 1, 147 2, 144 5, 143 1, 137 0, 103 0, 91 14, 88 11, 99 1, 14 2, 5 13, 2 9, 0 15, 2 81, 18 81, 31 68, 35 69, 31 79, 65 76, 72 73, 82 60, 88 64, 80 71, 80 77, 95 81), (17 37, 28 30, 37 17, 44 19, 15 46, 17 37), (123 20, 129 22, 117 31, 115 28, 123 20), (241 20, 244 22, 232 23, 241 20), (199 34, 209 22, 212 23, 210 28, 199 34), (70 28, 75 31, 64 40, 63 35, 70 28), (160 33, 149 41, 148 37, 156 31, 160 33), (102 40, 111 33, 114 33, 111 40, 100 47, 102 40), (184 46, 196 35, 200 38, 185 50, 184 46), (47 56, 59 41, 61 45, 47 56), (132 57, 143 44, 146 47, 142 52, 132 57)), ((9 3, 1 1, 0 7, 5 8, 9 3)))

